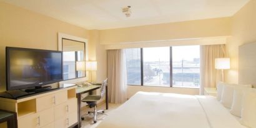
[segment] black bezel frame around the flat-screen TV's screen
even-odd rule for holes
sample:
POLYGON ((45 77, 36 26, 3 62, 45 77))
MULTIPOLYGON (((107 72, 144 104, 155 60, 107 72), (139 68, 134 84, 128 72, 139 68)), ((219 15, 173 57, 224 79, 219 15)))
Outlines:
POLYGON ((55 82, 60 82, 63 81, 63 52, 62 51, 52 51, 52 50, 44 50, 44 49, 29 49, 29 48, 22 48, 22 47, 6 47, 6 90, 11 91, 11 90, 17 90, 17 89, 27 89, 30 87, 39 87, 39 86, 44 86, 47 84, 52 84, 55 82), (11 87, 10 84, 10 58, 9 58, 9 52, 11 49, 17 49, 17 50, 23 50, 23 51, 42 51, 42 52, 57 52, 61 53, 61 79, 55 80, 55 81, 46 81, 46 82, 40 82, 40 83, 35 83, 35 84, 26 84, 22 86, 16 86, 16 87, 11 87))

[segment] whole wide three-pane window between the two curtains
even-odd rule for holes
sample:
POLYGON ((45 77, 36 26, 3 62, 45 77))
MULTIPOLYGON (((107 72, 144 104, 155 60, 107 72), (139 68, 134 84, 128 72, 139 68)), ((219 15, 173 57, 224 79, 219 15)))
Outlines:
POLYGON ((199 87, 200 46, 126 49, 127 84, 199 87))

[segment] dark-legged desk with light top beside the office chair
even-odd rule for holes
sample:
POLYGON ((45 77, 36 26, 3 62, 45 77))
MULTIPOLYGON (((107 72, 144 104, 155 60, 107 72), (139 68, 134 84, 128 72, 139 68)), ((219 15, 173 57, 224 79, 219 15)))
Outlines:
MULTIPOLYGON (((91 95, 92 91, 96 90, 96 89, 100 89, 101 86, 100 85, 91 85, 88 87, 77 87, 76 88, 76 97, 77 97, 77 102, 78 102, 78 127, 81 127, 81 100, 82 100, 82 94, 88 93, 91 95)), ((108 102, 108 96, 107 96, 107 86, 106 86, 106 109, 109 109, 109 102, 108 102)))

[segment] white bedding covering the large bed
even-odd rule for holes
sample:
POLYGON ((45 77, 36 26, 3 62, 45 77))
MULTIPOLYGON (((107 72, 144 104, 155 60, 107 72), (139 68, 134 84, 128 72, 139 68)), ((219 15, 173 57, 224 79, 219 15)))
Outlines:
POLYGON ((245 128, 212 96, 137 92, 98 128, 245 128))

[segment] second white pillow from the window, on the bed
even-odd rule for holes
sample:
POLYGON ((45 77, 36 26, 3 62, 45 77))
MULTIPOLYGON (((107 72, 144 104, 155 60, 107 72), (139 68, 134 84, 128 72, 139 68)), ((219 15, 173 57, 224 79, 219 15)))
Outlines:
POLYGON ((233 101, 233 92, 234 92, 234 87, 231 85, 224 85, 222 89, 222 98, 220 100, 220 103, 227 107, 230 108, 232 105, 233 101))

